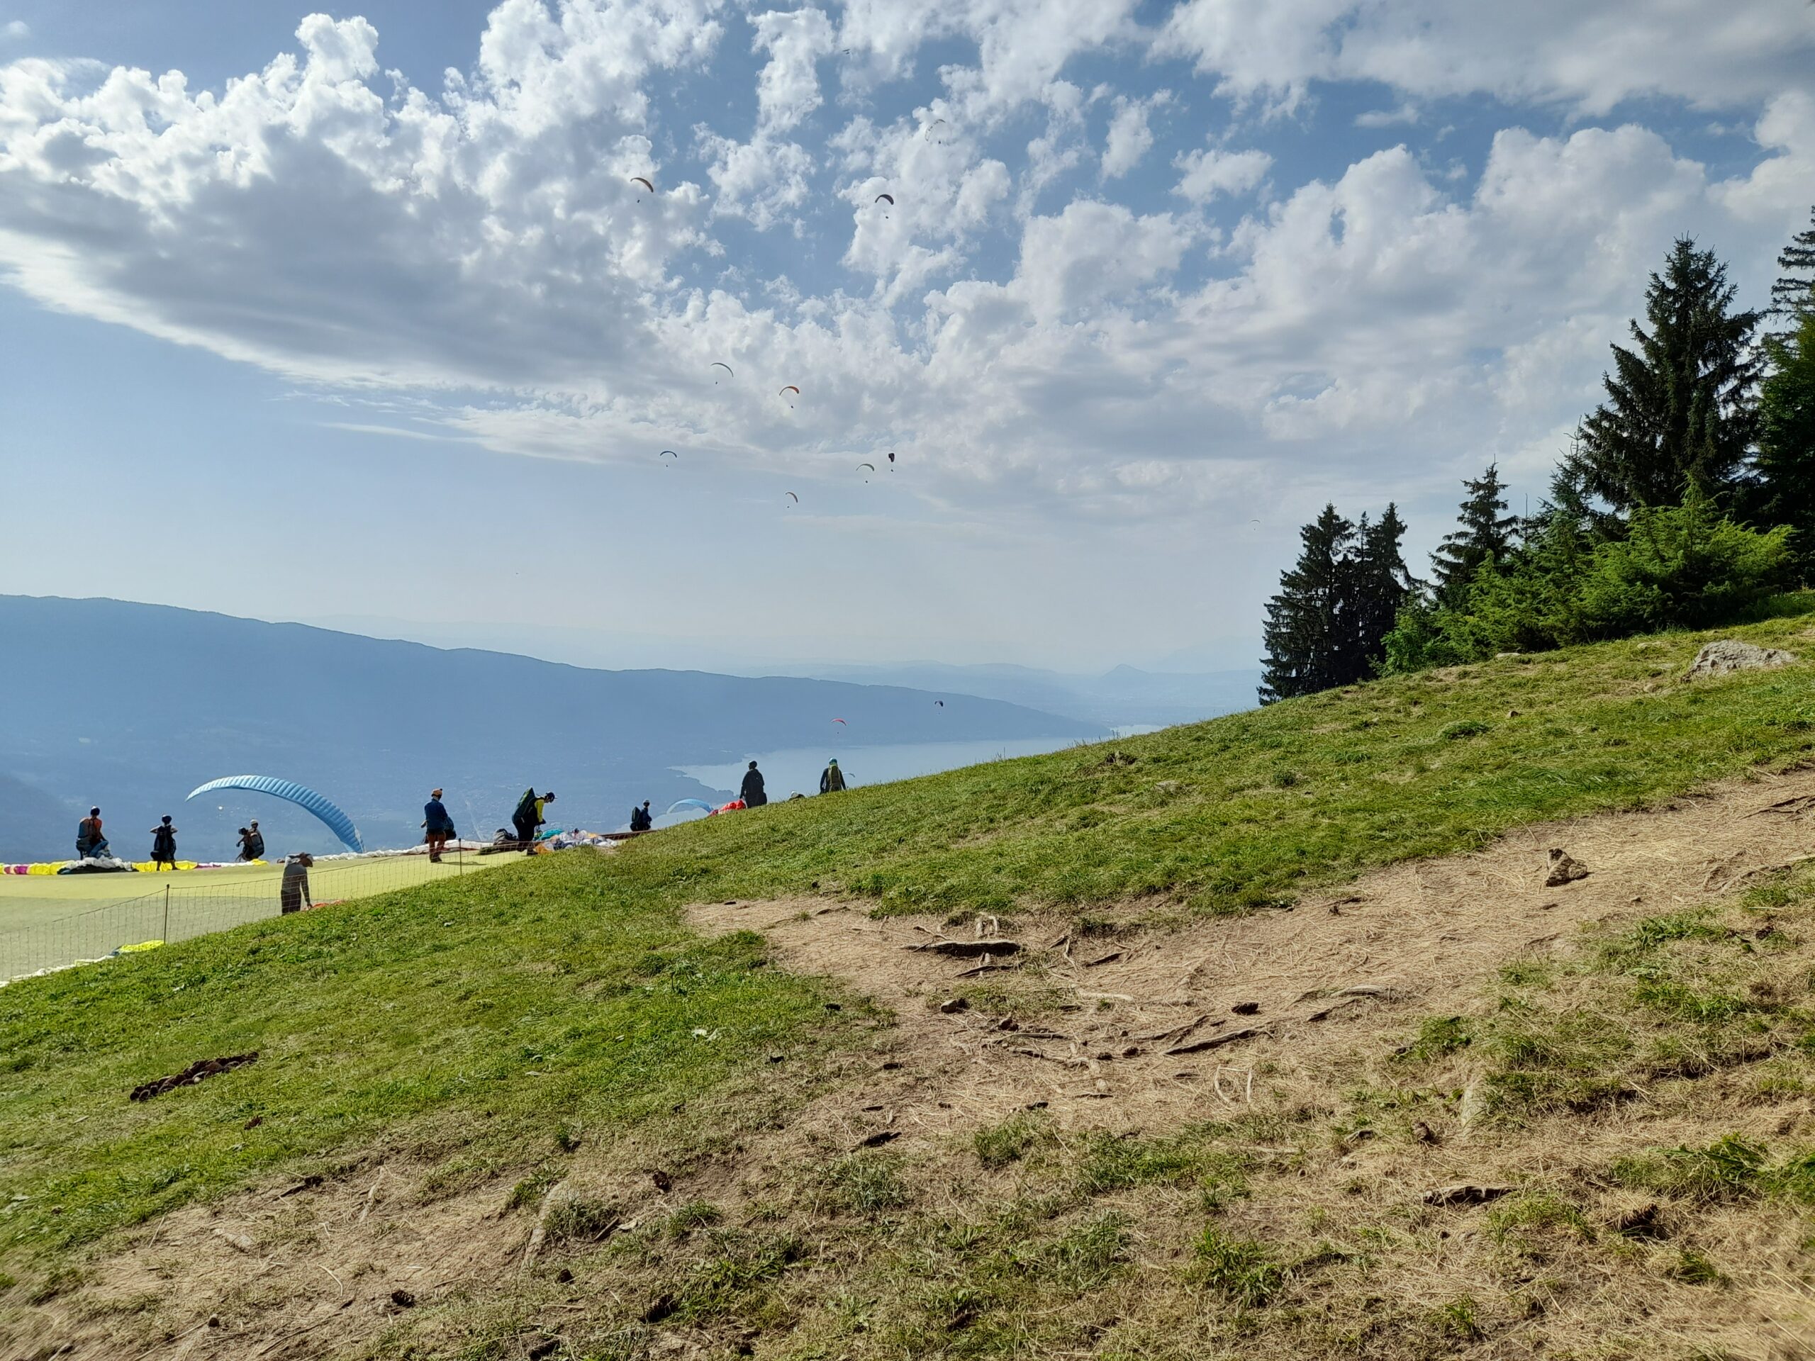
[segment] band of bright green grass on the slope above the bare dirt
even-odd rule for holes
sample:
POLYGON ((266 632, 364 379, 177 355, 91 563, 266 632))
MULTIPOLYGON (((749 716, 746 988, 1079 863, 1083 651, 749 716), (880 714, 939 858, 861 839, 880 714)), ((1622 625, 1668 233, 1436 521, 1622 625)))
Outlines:
MULTIPOLYGON (((1733 632, 1802 646, 1806 626, 1733 632)), ((1312 697, 1116 744, 1134 764, 1074 749, 715 818, 612 858, 510 867, 5 989, 0 1256, 42 1272, 172 1205, 379 1141, 448 1158, 457 1185, 532 1165, 570 1123, 699 1143, 713 1136, 677 1103, 737 1096, 741 1120, 771 1118, 804 1087, 760 1082, 770 1049, 813 1071, 815 1053, 875 1022, 822 1011, 819 985, 764 969, 755 938, 692 938, 686 902, 820 887, 898 911, 1154 895, 1180 906, 1165 911, 1238 911, 1815 749, 1815 671, 1681 686, 1701 641, 1312 697), (245 1049, 263 1058, 231 1080, 123 1102, 142 1080, 245 1049)))

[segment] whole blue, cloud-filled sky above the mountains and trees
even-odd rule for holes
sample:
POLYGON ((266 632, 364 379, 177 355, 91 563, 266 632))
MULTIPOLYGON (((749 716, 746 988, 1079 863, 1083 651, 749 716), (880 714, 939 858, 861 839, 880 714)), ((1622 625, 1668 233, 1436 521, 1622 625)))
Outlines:
POLYGON ((1811 201, 1800 0, 0 0, 0 590, 1251 666, 1811 201))

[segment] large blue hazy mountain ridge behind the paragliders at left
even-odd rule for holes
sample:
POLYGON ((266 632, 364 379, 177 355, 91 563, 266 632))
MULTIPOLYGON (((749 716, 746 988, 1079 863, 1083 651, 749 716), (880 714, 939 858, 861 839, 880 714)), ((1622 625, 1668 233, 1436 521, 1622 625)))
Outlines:
MULTIPOLYGON (((370 844, 397 846, 417 840, 437 784, 463 835, 508 824, 530 782, 557 791, 559 824, 615 827, 635 800, 661 809, 708 793, 673 766, 800 746, 833 753, 839 742, 1102 735, 1100 724, 958 691, 592 671, 122 601, 0 595, 0 773, 62 804, 65 820, 67 808, 102 804, 114 849, 134 857, 162 813, 176 817, 185 857, 231 855, 247 817, 274 853, 334 849, 276 800, 183 806, 221 775, 309 784, 370 844)), ((60 840, 73 838, 69 820, 60 840)), ((13 840, 0 824, 0 858, 40 853, 13 840)))

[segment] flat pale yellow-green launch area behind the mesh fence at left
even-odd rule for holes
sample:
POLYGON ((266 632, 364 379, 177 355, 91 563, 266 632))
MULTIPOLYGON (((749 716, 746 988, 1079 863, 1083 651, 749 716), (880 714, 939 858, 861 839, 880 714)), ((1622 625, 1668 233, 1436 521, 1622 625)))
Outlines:
MULTIPOLYGON (((456 853, 450 849, 441 864, 430 864, 425 855, 318 862, 309 871, 309 896, 316 907, 323 907, 437 878, 470 875, 519 858, 519 855, 479 857, 472 851, 456 853)), ((132 880, 131 887, 120 884, 120 893, 131 896, 109 898, 64 915, 53 913, 62 906, 74 907, 80 900, 58 896, 49 887, 36 898, 15 893, 0 895, 0 909, 7 909, 7 916, 13 920, 40 918, 29 925, 0 931, 0 980, 107 958, 134 945, 149 945, 149 942, 192 940, 265 916, 278 916, 283 911, 280 898, 281 864, 169 875, 149 893, 131 893, 131 889, 149 887, 142 882, 154 878, 154 875, 122 875, 120 878, 132 880)), ((111 882, 107 886, 82 884, 80 887, 103 891, 111 887, 111 882)))

